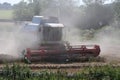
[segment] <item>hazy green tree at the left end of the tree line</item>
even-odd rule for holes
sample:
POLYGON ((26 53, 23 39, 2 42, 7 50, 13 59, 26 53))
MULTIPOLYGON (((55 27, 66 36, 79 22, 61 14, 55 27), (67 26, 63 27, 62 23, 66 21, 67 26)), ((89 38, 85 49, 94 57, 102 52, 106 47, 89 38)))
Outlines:
POLYGON ((31 20, 33 16, 33 7, 31 4, 27 4, 24 1, 14 5, 14 19, 23 21, 31 20))

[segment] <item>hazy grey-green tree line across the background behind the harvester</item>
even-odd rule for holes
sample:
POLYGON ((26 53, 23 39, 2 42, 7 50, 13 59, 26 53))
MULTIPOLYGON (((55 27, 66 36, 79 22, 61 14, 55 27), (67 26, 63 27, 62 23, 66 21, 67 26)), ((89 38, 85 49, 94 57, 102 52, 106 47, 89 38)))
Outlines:
POLYGON ((22 0, 14 5, 14 19, 31 20, 34 15, 55 16, 61 22, 80 28, 101 28, 120 19, 120 1, 114 0, 22 0), (70 24, 71 25, 71 24, 70 24), (92 26, 92 27, 91 27, 92 26))

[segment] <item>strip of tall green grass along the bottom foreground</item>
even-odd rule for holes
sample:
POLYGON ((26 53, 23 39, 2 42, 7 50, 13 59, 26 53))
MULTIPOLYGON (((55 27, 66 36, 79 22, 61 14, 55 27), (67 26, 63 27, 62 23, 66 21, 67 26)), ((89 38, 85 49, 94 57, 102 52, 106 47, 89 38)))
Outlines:
POLYGON ((93 66, 70 74, 66 71, 32 72, 27 66, 6 65, 0 72, 0 80, 120 80, 120 67, 93 66))

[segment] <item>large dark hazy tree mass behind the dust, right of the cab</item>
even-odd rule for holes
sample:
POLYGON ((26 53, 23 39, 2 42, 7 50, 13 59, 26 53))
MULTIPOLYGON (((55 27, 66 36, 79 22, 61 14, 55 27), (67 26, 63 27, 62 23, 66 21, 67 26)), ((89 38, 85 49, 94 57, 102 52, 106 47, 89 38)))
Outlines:
POLYGON ((77 15, 76 21, 76 26, 82 29, 99 29, 114 19, 113 9, 109 5, 91 3, 84 7, 83 12, 82 16, 77 15))

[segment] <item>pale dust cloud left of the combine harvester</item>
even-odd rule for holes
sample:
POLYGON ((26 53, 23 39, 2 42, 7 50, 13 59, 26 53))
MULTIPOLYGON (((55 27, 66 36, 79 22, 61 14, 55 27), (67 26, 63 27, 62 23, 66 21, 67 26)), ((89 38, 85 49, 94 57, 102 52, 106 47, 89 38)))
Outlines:
POLYGON ((21 59, 21 52, 24 49, 32 48, 39 42, 37 33, 30 34, 22 31, 23 25, 0 24, 2 24, 0 26, 0 61, 21 59))

